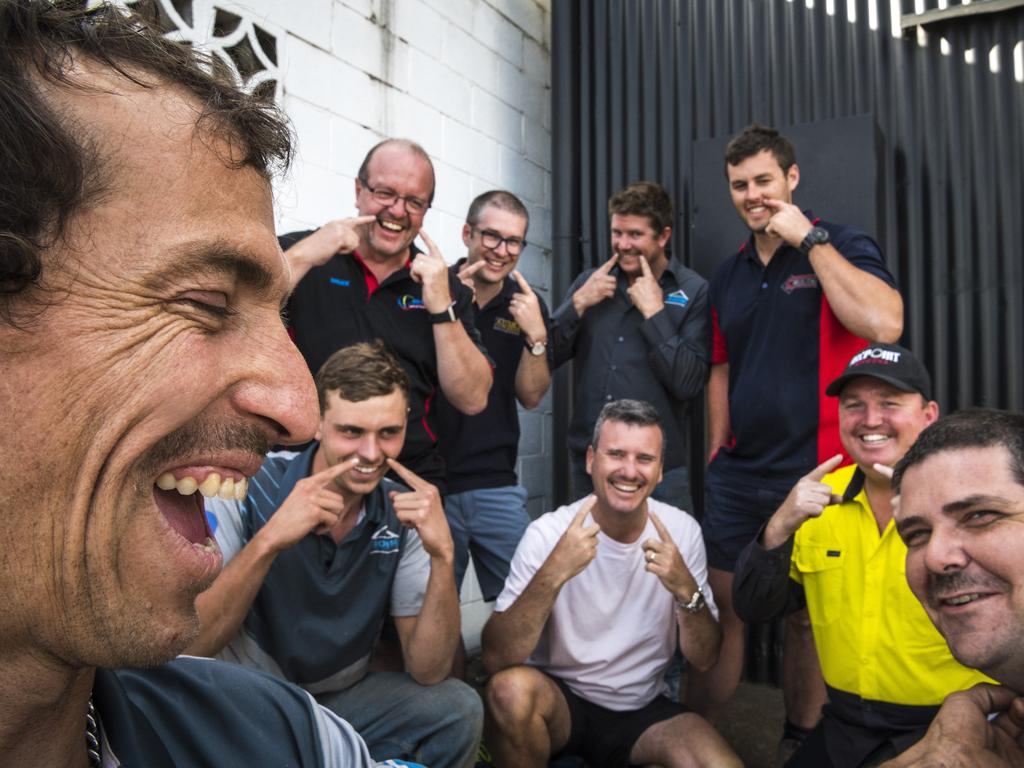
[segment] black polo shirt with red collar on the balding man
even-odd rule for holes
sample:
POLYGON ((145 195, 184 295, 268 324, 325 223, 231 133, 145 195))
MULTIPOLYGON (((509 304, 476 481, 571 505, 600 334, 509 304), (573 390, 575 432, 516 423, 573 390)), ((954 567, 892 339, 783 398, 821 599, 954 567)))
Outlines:
MULTIPOLYGON (((311 233, 289 232, 279 241, 288 250, 311 233)), ((483 351, 473 325, 472 291, 456 278, 450 278, 449 289, 456 316, 483 351)), ((288 303, 288 316, 292 338, 314 376, 342 347, 384 341, 413 384, 406 444, 398 460, 443 490, 444 462, 436 447, 434 413, 440 389, 434 332, 423 306, 423 286, 410 276, 408 266, 378 285, 358 254, 337 254, 299 281, 288 303)))

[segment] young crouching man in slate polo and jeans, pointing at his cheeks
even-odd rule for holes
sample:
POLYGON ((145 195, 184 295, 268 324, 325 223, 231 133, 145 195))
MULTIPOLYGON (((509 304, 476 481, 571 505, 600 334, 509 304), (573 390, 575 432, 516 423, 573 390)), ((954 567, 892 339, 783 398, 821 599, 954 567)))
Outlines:
POLYGON ((409 388, 381 342, 340 349, 316 375, 316 442, 271 455, 234 494, 244 501, 208 478, 200 489, 220 497, 207 510, 227 564, 197 600, 190 652, 298 683, 347 713, 375 759, 462 768, 482 707, 445 680, 460 633, 454 546, 437 489, 395 461, 409 388), (407 673, 369 671, 389 614, 407 673))

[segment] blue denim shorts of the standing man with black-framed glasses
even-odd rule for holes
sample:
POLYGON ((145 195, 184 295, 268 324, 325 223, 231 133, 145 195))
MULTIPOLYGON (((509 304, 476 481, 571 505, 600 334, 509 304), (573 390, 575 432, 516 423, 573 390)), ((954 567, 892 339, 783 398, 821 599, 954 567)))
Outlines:
POLYGON ((473 554, 473 567, 484 600, 495 600, 505 586, 509 563, 529 525, 526 488, 505 485, 478 488, 444 497, 452 540, 455 542, 455 584, 462 580, 473 554))

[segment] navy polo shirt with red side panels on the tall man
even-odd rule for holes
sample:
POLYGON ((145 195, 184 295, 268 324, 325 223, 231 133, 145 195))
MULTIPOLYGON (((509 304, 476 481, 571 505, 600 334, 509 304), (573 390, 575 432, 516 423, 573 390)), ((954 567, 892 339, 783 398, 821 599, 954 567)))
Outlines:
MULTIPOLYGON (((851 264, 896 288, 869 236, 814 224, 851 264)), ((783 243, 766 266, 752 234, 712 275, 711 303, 712 362, 729 364, 732 439, 710 471, 781 481, 841 453, 836 400, 824 389, 867 342, 833 313, 810 257, 783 243)))

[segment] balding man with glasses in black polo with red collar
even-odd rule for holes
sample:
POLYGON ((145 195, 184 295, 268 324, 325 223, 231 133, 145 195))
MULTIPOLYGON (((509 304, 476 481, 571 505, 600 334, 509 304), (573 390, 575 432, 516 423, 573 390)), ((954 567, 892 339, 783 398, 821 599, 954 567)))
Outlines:
POLYGON ((437 451, 438 392, 460 412, 487 403, 490 366, 473 326, 472 292, 450 274, 421 229, 434 195, 422 146, 385 139, 355 179, 359 215, 280 238, 292 268, 292 338, 310 371, 341 347, 381 339, 412 379, 409 432, 399 460, 444 489, 437 451), (427 247, 418 249, 419 234, 427 247))

